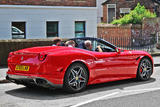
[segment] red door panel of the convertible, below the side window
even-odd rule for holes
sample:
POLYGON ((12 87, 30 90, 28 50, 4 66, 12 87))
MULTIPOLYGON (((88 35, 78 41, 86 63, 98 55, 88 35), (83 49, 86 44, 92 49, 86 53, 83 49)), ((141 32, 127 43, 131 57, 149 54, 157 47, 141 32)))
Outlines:
POLYGON ((117 52, 96 52, 96 69, 97 78, 117 78, 119 77, 117 68, 117 52))

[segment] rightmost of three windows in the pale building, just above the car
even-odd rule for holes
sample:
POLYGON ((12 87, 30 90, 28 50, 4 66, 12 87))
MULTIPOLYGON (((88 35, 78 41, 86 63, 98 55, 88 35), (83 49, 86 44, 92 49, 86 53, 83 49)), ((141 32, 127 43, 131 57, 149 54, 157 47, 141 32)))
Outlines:
POLYGON ((85 37, 85 22, 76 21, 75 22, 75 37, 85 37))

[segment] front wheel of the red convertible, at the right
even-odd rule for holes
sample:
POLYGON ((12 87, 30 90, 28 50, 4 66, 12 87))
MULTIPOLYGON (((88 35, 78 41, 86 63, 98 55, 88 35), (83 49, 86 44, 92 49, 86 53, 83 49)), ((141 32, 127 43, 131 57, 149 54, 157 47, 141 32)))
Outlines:
POLYGON ((140 81, 149 80, 152 73, 153 73, 152 62, 148 58, 141 59, 137 70, 137 80, 140 81))

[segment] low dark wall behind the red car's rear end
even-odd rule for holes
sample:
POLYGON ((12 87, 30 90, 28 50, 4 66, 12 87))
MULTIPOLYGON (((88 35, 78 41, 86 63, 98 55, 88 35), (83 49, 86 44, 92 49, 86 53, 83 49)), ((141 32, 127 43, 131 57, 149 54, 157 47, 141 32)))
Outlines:
POLYGON ((0 66, 7 65, 9 52, 33 46, 51 46, 52 39, 0 40, 0 66))

